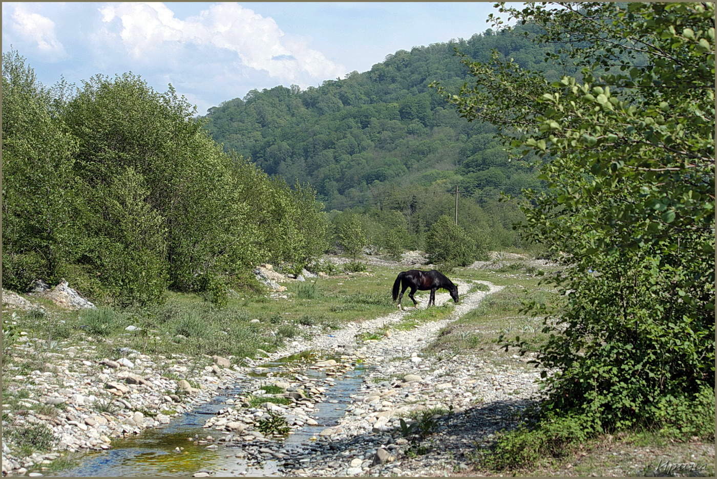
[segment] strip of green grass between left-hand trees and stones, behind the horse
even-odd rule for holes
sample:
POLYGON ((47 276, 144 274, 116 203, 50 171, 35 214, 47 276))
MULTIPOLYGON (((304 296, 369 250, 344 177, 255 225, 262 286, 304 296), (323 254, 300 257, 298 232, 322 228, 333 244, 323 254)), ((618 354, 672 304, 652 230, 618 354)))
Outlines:
MULTIPOLYGON (((98 357, 115 359, 119 347, 165 356, 181 353, 192 357, 204 354, 255 357, 258 349, 275 352, 287 340, 311 337, 317 329, 330 332, 348 321, 372 319, 394 311, 390 288, 397 271, 374 268, 372 274, 320 279, 318 286, 308 281, 288 283, 293 291, 288 300, 267 299, 263 294, 242 291, 239 297, 229 299, 224 308, 194 294, 173 292, 168 292, 164 304, 142 308, 100 307, 78 313, 49 305, 47 314, 19 312, 16 329, 45 342, 59 342, 59 349, 87 344, 92 338, 98 357), (299 294, 302 289, 314 288, 317 294, 299 294), (252 323, 252 319, 260 322, 252 323), (141 330, 125 331, 130 324, 141 330)), ((11 357, 20 344, 16 342, 7 355, 11 357)), ((84 352, 87 356, 91 351, 84 352)), ((52 362, 42 354, 22 355, 30 356, 31 361, 14 364, 21 367, 16 374, 43 370, 45 362, 52 362)))

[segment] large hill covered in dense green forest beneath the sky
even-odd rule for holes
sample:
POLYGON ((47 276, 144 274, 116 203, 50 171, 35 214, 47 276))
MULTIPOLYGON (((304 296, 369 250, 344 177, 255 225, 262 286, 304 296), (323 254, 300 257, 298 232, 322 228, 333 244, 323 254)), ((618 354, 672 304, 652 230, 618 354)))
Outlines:
MULTIPOLYGON (((479 61, 495 49, 549 79, 574 73, 543 62, 553 50, 525 39, 523 32, 531 29, 489 29, 468 40, 399 50, 369 72, 304 91, 252 90, 210 109, 206 127, 225 150, 251 158, 266 173, 309 182, 327 209, 390 196, 401 185, 426 193, 427 186, 445 191, 458 184, 480 203, 501 190, 520 194, 521 188, 539 188, 533 171, 511 161, 493 125, 465 122, 428 85, 440 80, 457 91, 469 79, 455 48, 479 61)), ((379 206, 377 199, 371 203, 379 206)))

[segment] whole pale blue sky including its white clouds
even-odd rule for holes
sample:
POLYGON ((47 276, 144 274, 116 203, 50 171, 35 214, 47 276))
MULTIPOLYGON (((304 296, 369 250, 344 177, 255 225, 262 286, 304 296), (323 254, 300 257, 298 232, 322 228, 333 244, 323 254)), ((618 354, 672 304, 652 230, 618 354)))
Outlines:
POLYGON ((200 115, 250 89, 318 86, 398 49, 470 38, 493 2, 4 2, 2 42, 44 84, 140 74, 200 115))

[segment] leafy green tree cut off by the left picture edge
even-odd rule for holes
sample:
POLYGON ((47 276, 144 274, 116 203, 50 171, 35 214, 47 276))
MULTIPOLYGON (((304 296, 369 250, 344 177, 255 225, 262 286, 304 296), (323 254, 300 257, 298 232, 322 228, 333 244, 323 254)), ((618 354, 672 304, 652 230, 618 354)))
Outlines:
POLYGON ((77 140, 16 51, 3 54, 2 89, 3 283, 25 291, 34 279, 59 280, 72 261, 77 140))

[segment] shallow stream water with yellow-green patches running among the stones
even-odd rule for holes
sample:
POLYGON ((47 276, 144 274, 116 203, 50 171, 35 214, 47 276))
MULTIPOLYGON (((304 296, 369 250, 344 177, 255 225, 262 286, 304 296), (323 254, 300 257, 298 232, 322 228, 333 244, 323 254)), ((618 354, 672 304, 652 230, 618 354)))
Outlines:
MULTIPOLYGON (((262 372, 252 375, 281 374, 282 369, 298 357, 287 357, 275 362, 265 363, 262 372), (263 369, 266 368, 266 372, 263 369)), ((303 359, 303 358, 302 358, 303 359)), ((313 418, 316 426, 304 425, 294 430, 283 442, 286 449, 295 445, 307 444, 310 437, 318 432, 336 425, 343 417, 351 395, 362 382, 365 369, 358 365, 356 369, 346 372, 341 377, 333 377, 336 385, 327 388, 326 400, 316 405, 313 418)), ((308 377, 323 379, 319 369, 306 369, 302 372, 308 377)), ((112 442, 112 448, 101 451, 82 453, 76 459, 80 463, 75 468, 61 471, 53 475, 62 477, 95 476, 186 476, 199 470, 213 471, 219 476, 272 476, 280 475, 276 460, 267 460, 261 468, 247 465, 247 461, 235 457, 242 451, 241 444, 214 442, 217 449, 207 449, 207 444, 194 444, 189 437, 205 438, 207 435, 220 437, 222 432, 202 427, 209 415, 216 414, 227 407, 225 401, 239 395, 244 390, 242 384, 232 389, 223 390, 211 401, 198 405, 194 410, 175 417, 168 425, 146 430, 141 434, 125 437, 112 442), (176 452, 177 447, 184 450, 176 452), (229 457, 227 457, 229 456, 229 457)))

